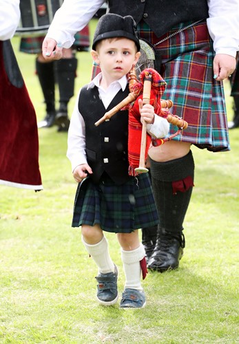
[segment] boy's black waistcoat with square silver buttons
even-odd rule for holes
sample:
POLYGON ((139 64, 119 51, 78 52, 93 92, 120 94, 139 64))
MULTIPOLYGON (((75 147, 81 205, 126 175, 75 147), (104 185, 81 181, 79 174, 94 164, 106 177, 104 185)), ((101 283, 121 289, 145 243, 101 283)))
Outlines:
POLYGON ((118 111, 108 121, 96 127, 94 123, 129 94, 129 87, 116 94, 105 109, 97 87, 81 89, 79 111, 85 121, 85 151, 92 168, 92 180, 97 183, 104 172, 118 185, 127 182, 128 175, 128 111, 118 111))

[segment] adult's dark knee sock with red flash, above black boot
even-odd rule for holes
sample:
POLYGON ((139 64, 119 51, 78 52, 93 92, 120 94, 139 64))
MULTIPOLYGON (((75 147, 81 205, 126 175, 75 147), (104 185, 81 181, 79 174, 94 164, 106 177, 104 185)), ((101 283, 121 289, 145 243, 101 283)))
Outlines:
POLYGON ((181 235, 194 186, 191 151, 168 162, 150 159, 152 186, 159 216, 159 233, 181 235))

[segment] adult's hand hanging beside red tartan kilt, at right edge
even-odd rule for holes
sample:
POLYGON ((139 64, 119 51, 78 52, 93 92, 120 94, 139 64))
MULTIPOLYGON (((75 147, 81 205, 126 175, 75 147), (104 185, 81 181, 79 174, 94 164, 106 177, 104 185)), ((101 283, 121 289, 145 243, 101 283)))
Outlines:
POLYGON ((236 69, 236 58, 227 54, 217 54, 214 57, 214 78, 222 81, 231 76, 236 69))

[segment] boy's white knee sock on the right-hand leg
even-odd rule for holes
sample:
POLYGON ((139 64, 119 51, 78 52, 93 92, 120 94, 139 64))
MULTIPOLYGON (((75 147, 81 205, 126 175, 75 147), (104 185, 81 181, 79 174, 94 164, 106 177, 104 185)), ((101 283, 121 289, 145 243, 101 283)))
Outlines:
POLYGON ((141 244, 136 250, 125 251, 121 248, 121 259, 125 270, 125 289, 143 290, 141 286, 141 264, 145 249, 141 244))

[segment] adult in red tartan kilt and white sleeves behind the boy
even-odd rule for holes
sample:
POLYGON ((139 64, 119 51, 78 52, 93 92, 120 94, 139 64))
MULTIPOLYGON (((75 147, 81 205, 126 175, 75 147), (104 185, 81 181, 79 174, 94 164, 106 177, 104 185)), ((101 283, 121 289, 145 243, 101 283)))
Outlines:
MULTIPOLYGON (((143 229, 148 267, 178 268, 183 256, 183 222, 194 186, 191 144, 209 151, 229 151, 222 80, 236 67, 239 1, 109 0, 109 12, 132 15, 140 38, 155 51, 155 68, 167 83, 163 98, 172 113, 189 124, 182 135, 149 149, 149 163, 159 224, 143 229)), ((103 0, 65 0, 43 41, 46 60, 59 59, 103 0), (57 44, 61 47, 57 46, 57 44)), ((171 125, 169 136, 176 128, 171 125)))

